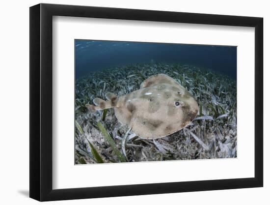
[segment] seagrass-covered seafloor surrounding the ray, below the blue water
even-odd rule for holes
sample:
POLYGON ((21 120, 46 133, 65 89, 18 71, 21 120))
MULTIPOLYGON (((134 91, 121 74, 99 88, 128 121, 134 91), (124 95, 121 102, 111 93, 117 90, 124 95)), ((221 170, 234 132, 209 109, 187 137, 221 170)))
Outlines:
POLYGON ((236 80, 212 70, 178 63, 138 63, 92 72, 76 80, 75 164, 98 163, 100 158, 104 163, 120 162, 99 121, 127 162, 237 157, 236 111, 236 80), (85 107, 95 97, 106 99, 107 92, 121 96, 139 89, 143 80, 161 73, 178 81, 199 104, 197 117, 185 129, 144 140, 117 120, 114 109, 105 116, 104 111, 91 114, 85 107))

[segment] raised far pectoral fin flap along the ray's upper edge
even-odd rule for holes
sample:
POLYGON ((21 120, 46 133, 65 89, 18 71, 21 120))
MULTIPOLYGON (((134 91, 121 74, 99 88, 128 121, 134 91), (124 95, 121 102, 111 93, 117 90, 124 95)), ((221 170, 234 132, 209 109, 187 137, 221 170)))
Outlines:
POLYGON ((158 84, 162 84, 162 83, 175 85, 175 86, 180 85, 173 78, 171 78, 165 74, 158 74, 158 75, 153 75, 150 78, 147 78, 145 81, 143 81, 140 85, 140 88, 154 87, 154 86, 156 86, 158 84))

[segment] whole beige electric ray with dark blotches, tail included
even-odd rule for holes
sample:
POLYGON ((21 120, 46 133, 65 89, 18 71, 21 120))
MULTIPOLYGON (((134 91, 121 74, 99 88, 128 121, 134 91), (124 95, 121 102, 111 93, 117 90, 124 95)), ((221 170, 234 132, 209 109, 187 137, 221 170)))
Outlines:
POLYGON ((128 124, 143 139, 157 139, 187 126, 199 110, 198 103, 187 89, 165 74, 153 75, 141 83, 140 89, 117 97, 106 93, 87 104, 91 113, 114 108, 122 124, 128 124))

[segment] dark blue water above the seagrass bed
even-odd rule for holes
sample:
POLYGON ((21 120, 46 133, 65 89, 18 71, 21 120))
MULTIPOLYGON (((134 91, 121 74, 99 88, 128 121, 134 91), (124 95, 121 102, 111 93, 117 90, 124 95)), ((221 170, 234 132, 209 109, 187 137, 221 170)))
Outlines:
POLYGON ((236 52, 235 46, 75 40, 76 78, 129 63, 179 62, 236 79, 236 52))

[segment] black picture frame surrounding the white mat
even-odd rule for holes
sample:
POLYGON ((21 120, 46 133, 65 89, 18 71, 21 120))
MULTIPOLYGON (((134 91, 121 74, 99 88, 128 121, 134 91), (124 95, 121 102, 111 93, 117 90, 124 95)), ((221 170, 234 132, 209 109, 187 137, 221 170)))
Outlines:
POLYGON ((30 7, 30 198, 39 201, 263 186, 263 18, 58 4, 30 7), (255 28, 255 177, 53 189, 53 16, 255 28))

